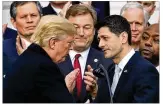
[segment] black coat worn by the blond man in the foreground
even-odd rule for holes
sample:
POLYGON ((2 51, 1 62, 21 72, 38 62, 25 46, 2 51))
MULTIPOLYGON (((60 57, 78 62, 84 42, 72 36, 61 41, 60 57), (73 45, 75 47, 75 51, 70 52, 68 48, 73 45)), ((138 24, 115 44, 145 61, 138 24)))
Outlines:
POLYGON ((74 102, 59 67, 40 46, 31 44, 13 65, 3 88, 3 102, 74 102))

